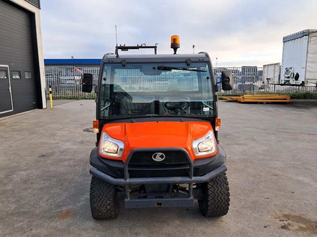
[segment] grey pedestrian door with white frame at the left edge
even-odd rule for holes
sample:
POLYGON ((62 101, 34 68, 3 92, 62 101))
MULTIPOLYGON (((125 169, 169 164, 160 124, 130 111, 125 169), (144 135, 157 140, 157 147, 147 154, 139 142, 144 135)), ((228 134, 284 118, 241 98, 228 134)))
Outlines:
POLYGON ((8 65, 0 65, 0 113, 13 110, 8 65))

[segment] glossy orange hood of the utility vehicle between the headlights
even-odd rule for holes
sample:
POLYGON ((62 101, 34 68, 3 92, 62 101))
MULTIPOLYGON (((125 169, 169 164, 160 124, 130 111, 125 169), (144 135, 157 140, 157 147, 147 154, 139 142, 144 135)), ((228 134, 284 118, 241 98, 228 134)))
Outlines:
MULTIPOLYGON (((110 137, 123 141, 124 150, 120 158, 102 156, 125 161, 129 152, 134 148, 181 147, 186 149, 194 160, 195 155, 192 151, 191 143, 194 139, 206 135, 209 130, 212 130, 210 123, 191 121, 106 124, 102 132, 106 132, 110 137)), ((210 155, 212 154, 207 156, 210 155)), ((200 156, 199 158, 204 157, 200 156)))

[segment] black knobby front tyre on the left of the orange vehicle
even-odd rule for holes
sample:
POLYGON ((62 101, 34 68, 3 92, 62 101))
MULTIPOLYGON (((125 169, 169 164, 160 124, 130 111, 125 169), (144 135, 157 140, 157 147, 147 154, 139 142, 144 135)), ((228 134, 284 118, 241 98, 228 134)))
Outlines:
POLYGON ((115 185, 109 184, 95 176, 90 183, 90 209, 96 220, 114 219, 119 214, 119 203, 115 200, 115 185))

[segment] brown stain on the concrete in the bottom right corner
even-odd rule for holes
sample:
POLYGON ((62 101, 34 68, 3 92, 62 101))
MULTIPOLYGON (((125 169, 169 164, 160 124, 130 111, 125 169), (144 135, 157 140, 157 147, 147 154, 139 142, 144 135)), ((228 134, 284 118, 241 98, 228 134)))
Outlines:
POLYGON ((293 214, 276 214, 271 220, 273 225, 296 232, 317 234, 317 221, 293 214))

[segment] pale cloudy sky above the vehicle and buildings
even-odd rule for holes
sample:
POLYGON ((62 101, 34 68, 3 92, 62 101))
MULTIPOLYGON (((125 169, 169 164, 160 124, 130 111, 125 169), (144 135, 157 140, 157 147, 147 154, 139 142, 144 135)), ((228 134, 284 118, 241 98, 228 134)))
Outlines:
POLYGON ((177 34, 178 53, 195 45, 213 66, 262 67, 281 62, 283 36, 317 28, 316 9, 316 0, 41 0, 44 58, 102 58, 115 50, 117 25, 118 45, 172 53, 177 34))

